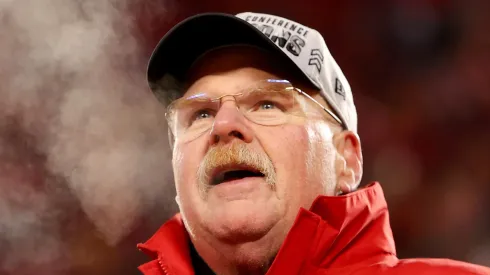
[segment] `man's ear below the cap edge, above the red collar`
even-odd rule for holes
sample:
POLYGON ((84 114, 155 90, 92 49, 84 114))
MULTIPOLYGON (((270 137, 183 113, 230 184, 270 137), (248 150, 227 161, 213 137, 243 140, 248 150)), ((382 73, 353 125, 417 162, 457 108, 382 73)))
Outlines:
POLYGON ((355 190, 362 178, 362 150, 359 136, 352 131, 341 131, 333 137, 337 149, 335 170, 337 190, 349 193, 355 190))

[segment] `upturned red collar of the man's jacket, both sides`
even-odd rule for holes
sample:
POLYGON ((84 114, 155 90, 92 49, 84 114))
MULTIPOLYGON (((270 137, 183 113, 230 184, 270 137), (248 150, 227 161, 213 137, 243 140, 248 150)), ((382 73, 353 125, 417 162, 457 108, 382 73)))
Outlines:
MULTIPOLYGON (((138 248, 171 274, 193 274, 189 245, 177 214, 138 248)), ((395 254, 383 190, 374 182, 344 196, 318 196, 310 210, 300 209, 269 274, 299 273, 307 258, 315 266, 337 268, 393 259, 395 254)))

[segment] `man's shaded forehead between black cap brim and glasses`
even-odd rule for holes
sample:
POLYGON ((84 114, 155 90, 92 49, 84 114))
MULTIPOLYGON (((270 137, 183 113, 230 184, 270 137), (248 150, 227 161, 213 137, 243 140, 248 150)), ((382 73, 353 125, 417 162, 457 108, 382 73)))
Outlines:
POLYGON ((271 78, 301 82, 298 69, 275 55, 251 46, 229 46, 204 54, 192 65, 186 77, 186 95, 203 89, 219 93, 271 78))

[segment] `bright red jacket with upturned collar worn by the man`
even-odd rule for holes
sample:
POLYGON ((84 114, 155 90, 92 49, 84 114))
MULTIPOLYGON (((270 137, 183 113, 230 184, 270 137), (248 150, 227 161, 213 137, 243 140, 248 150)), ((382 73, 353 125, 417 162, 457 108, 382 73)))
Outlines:
MULTIPOLYGON (((146 275, 194 274, 190 240, 177 214, 138 248, 153 260, 146 275)), ((490 274, 490 268, 448 260, 396 257, 388 209, 378 183, 338 197, 319 196, 300 209, 267 275, 490 274)))

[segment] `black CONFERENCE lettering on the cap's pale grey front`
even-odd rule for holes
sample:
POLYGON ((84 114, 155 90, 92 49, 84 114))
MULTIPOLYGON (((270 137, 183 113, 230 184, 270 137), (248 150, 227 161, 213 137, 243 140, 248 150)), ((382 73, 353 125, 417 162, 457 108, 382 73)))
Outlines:
POLYGON ((286 49, 294 56, 299 56, 301 50, 306 45, 304 37, 308 34, 308 30, 292 21, 271 16, 252 15, 245 17, 245 21, 264 33, 265 36, 276 43, 281 49, 286 49))

